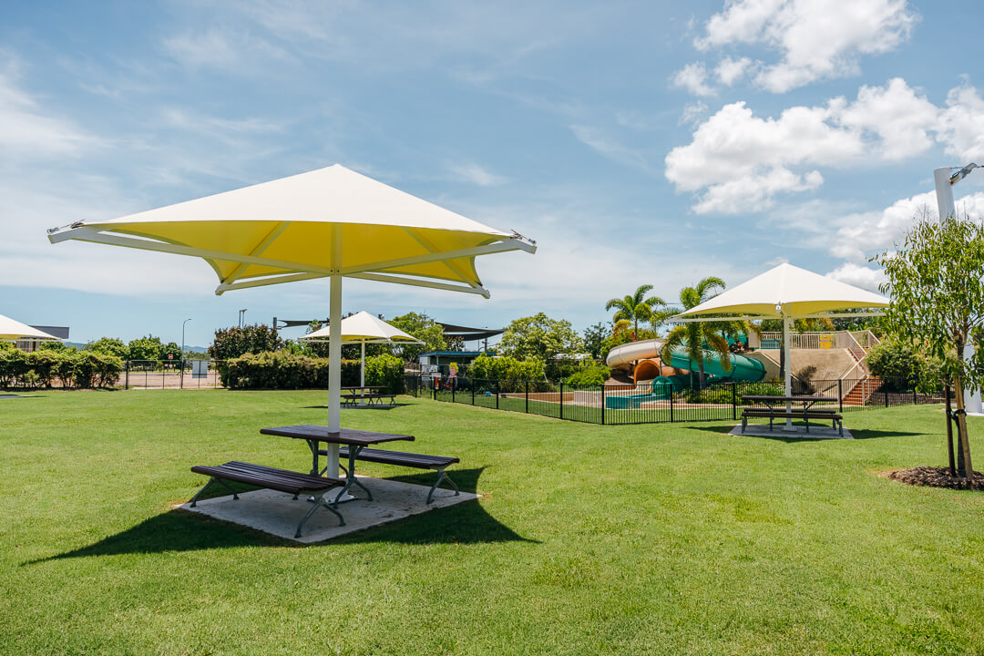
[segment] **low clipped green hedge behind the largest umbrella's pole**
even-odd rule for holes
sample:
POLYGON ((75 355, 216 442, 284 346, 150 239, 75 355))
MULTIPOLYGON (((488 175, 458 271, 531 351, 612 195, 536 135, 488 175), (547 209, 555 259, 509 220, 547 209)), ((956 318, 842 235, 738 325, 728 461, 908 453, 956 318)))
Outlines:
MULTIPOLYGON (((309 358, 288 350, 244 353, 218 369, 221 383, 232 389, 328 388, 327 358, 309 358)), ((359 384, 358 360, 341 361, 341 386, 359 384)))

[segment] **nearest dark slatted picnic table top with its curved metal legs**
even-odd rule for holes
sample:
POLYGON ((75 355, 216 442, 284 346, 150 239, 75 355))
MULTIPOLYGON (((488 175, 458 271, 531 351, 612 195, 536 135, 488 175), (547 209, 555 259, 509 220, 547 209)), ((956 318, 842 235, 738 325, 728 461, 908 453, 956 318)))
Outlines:
POLYGON ((341 491, 338 492, 338 497, 336 497, 334 504, 335 506, 338 506, 338 503, 341 501, 349 501, 350 499, 354 499, 354 497, 343 499, 343 497, 345 497, 348 493, 348 489, 353 484, 362 488, 368 495, 369 501, 372 501, 372 493, 369 492, 369 490, 355 478, 355 460, 358 457, 359 451, 365 447, 370 447, 372 445, 378 445, 385 442, 396 442, 399 440, 406 440, 410 442, 413 441, 412 435, 376 433, 373 431, 356 431, 349 428, 339 429, 338 432, 330 432, 327 426, 315 426, 312 424, 263 428, 260 429, 260 433, 263 435, 277 435, 284 438, 305 441, 308 448, 311 449, 312 476, 318 476, 321 472, 319 455, 322 449, 318 447, 319 444, 325 443, 329 446, 329 448, 325 449, 328 460, 325 473, 329 478, 338 478, 338 446, 344 445, 348 447, 348 473, 345 476, 345 484, 342 486, 341 491))

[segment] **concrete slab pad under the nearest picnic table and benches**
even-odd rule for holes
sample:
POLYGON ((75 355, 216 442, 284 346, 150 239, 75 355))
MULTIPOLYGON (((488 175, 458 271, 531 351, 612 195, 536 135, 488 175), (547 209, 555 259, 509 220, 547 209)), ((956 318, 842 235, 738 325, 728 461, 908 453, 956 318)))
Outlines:
MULTIPOLYGON (((324 507, 319 508, 304 524, 303 535, 297 539, 294 538, 297 522, 311 507, 311 502, 305 497, 294 501, 291 495, 282 492, 257 490, 240 494, 239 501, 234 501, 230 495, 200 501, 196 507, 189 504, 177 507, 249 526, 287 540, 312 544, 480 497, 466 492, 456 497, 453 490, 440 488, 434 493, 434 503, 428 506, 425 502, 430 488, 427 486, 369 476, 358 476, 358 479, 372 492, 373 501, 357 499, 339 504, 338 512, 345 518, 344 526, 338 526, 338 517, 332 512, 324 507)), ((356 496, 365 496, 364 492, 353 487, 356 496)))

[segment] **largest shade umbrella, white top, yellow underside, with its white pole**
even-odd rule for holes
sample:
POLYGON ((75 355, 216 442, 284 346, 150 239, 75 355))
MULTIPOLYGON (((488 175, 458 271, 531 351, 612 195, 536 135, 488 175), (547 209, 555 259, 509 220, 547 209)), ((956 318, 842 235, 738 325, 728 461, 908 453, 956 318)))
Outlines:
POLYGON ((70 239, 203 258, 231 289, 331 279, 329 430, 338 431, 341 279, 378 280, 486 298, 475 257, 536 244, 336 164, 105 221, 48 230, 70 239))

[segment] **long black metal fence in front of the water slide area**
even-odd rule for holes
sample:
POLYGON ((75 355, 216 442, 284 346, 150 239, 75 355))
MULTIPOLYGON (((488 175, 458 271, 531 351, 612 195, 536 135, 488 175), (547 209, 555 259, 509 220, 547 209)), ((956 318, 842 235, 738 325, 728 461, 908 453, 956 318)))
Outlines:
MULTIPOLYGON (((670 384, 587 386, 567 383, 407 377, 407 393, 439 401, 478 405, 589 424, 658 424, 737 421, 753 403, 749 395, 783 395, 781 383, 709 383, 704 388, 670 384)), ((926 393, 902 381, 879 379, 796 382, 793 393, 815 396, 813 407, 839 412, 943 403, 944 391, 926 393)))

